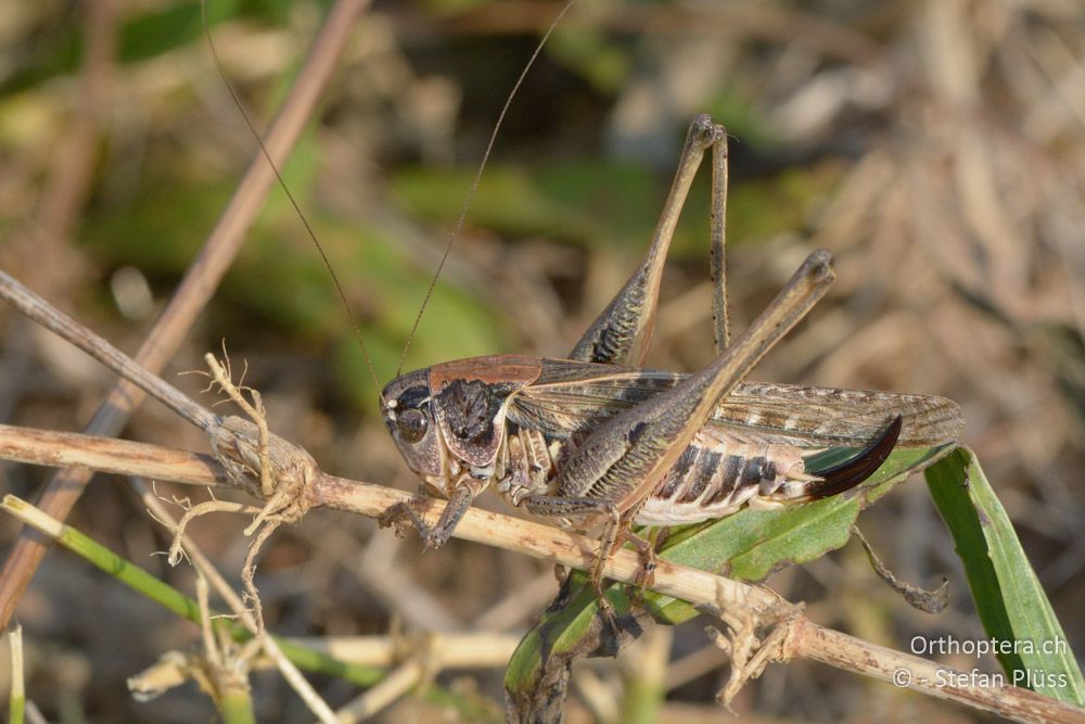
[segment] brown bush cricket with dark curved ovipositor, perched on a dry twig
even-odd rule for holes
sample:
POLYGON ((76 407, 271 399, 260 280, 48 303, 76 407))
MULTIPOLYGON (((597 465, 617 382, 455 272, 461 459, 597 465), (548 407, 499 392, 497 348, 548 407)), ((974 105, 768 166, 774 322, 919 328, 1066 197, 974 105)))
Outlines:
POLYGON ((385 424, 422 488, 449 500, 426 524, 439 548, 471 501, 495 486, 511 505, 579 530, 602 525, 592 584, 615 545, 631 542, 650 577, 652 546, 633 523, 693 523, 743 506, 773 507, 848 491, 896 446, 952 444, 963 425, 943 397, 744 383, 750 369, 825 294, 828 252, 810 254, 770 306, 733 343, 727 322, 724 216, 726 131, 709 116, 690 126, 674 183, 640 266, 567 359, 475 357, 397 377, 384 388, 385 424), (663 265, 693 176, 712 155, 715 361, 693 374, 641 369, 663 265), (804 457, 861 448, 826 470, 804 457))

